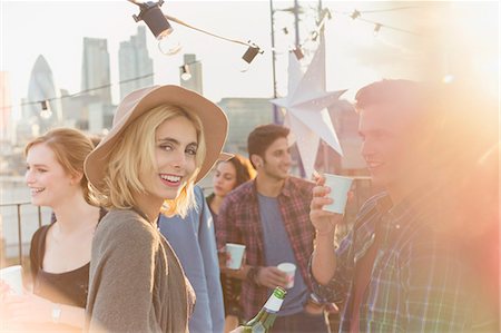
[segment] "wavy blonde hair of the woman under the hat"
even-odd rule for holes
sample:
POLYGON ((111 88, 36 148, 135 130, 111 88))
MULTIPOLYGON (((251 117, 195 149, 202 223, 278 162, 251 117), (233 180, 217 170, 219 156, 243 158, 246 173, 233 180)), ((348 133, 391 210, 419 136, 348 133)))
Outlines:
POLYGON ((194 207, 193 186, 206 154, 204 128, 199 117, 177 106, 161 105, 135 119, 120 135, 119 143, 110 150, 108 165, 105 166, 105 188, 101 205, 106 208, 127 209, 136 206, 134 193, 145 193, 139 180, 141 173, 156 172, 155 156, 156 130, 166 120, 185 117, 191 121, 197 133, 198 148, 195 156, 196 168, 186 186, 175 199, 165 199, 163 214, 186 216, 194 207))

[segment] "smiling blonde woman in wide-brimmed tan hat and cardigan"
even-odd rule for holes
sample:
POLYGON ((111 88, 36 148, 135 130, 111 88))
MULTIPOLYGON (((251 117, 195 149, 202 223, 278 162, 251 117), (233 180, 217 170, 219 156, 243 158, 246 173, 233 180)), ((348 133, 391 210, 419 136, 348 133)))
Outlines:
POLYGON ((140 89, 118 106, 85 163, 109 209, 92 243, 87 330, 187 332, 194 292, 156 222, 159 212, 186 215, 226 134, 224 112, 178 86, 140 89))

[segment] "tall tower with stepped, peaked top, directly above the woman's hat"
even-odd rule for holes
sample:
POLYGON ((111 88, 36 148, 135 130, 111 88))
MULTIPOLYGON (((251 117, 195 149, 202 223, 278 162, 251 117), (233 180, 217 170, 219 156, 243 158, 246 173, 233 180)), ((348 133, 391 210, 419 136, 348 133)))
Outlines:
POLYGON ((120 84, 120 99, 124 99, 130 91, 153 86, 153 60, 149 58, 146 47, 145 27, 138 27, 136 36, 130 36, 130 40, 120 42, 118 65, 120 69, 120 82, 130 80, 120 84), (144 78, 135 80, 139 77, 144 78))

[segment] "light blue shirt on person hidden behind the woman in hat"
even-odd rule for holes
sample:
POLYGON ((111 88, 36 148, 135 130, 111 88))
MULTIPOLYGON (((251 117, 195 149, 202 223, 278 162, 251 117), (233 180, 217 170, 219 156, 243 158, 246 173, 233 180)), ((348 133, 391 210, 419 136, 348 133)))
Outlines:
POLYGON ((196 209, 186 218, 160 215, 158 228, 176 252, 191 283, 197 301, 189 319, 189 332, 224 331, 225 311, 219 281, 213 216, 204 193, 195 186, 196 209))

